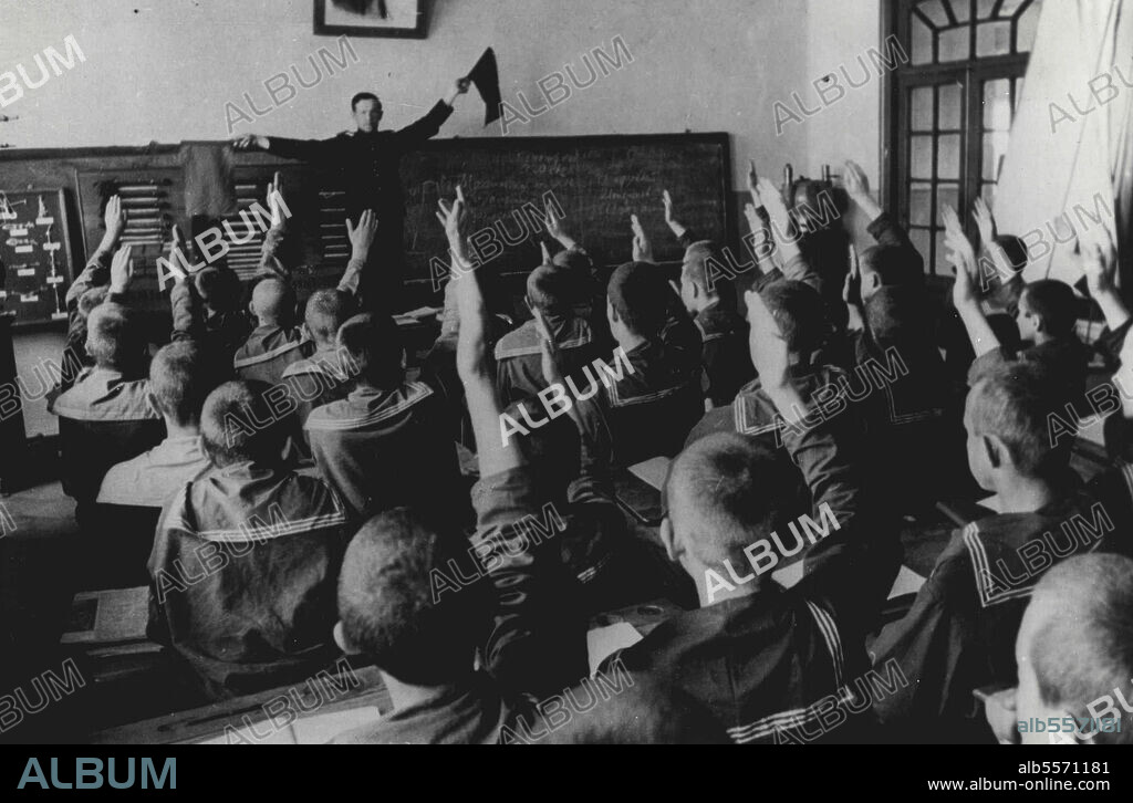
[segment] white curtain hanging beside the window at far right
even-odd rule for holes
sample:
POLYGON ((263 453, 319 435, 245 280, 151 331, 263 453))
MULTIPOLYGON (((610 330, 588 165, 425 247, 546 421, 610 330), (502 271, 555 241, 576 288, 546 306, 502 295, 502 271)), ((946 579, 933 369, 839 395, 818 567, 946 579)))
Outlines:
POLYGON ((1131 200, 1133 0, 1047 0, 996 193, 999 230, 1031 246, 1028 280, 1073 284, 1074 229, 1104 225, 1130 288, 1131 200))

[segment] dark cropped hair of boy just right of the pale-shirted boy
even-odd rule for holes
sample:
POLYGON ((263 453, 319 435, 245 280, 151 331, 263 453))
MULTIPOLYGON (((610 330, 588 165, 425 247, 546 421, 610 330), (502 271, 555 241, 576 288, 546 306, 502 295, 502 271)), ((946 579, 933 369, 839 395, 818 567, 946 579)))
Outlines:
POLYGON ((264 382, 225 382, 205 399, 201 439, 214 465, 282 460, 286 432, 264 399, 270 390, 264 382), (263 421, 272 424, 262 427, 263 421))

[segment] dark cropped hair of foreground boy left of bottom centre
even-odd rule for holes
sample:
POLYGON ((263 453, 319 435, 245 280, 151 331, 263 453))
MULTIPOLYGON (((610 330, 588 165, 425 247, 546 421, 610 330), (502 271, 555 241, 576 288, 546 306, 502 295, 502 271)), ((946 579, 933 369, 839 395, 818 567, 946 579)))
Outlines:
POLYGON ((343 633, 402 683, 442 685, 471 670, 489 622, 491 583, 457 588, 454 564, 465 578, 476 575, 458 544, 424 514, 398 507, 363 524, 347 547, 339 575, 343 633))

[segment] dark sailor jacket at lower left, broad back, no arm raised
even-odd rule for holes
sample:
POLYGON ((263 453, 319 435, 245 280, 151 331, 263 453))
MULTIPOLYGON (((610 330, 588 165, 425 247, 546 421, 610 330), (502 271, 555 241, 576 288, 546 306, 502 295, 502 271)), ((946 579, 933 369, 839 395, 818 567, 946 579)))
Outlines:
POLYGON ((151 634, 214 695, 299 682, 333 663, 351 531, 320 479, 250 462, 213 468, 162 512, 150 555, 151 634))

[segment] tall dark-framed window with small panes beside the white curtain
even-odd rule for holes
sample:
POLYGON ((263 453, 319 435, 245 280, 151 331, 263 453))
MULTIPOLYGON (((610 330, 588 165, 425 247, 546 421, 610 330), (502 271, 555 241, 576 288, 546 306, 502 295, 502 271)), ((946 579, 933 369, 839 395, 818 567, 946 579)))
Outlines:
POLYGON ((940 212, 989 203, 1042 0, 889 0, 908 63, 889 80, 888 199, 929 273, 951 275, 940 212))

